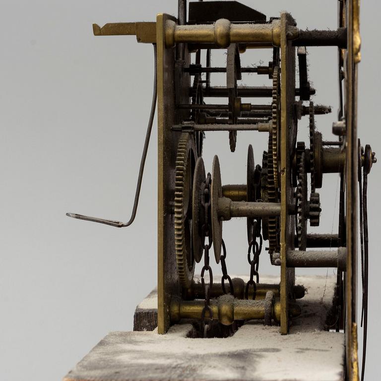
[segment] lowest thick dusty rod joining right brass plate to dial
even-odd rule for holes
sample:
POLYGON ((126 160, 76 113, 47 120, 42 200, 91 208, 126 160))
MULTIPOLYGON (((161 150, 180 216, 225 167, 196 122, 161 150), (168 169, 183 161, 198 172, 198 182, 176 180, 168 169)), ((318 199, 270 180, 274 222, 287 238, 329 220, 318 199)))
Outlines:
POLYGON ((347 249, 302 251, 289 250, 287 252, 287 267, 337 267, 345 270, 347 265, 347 249))

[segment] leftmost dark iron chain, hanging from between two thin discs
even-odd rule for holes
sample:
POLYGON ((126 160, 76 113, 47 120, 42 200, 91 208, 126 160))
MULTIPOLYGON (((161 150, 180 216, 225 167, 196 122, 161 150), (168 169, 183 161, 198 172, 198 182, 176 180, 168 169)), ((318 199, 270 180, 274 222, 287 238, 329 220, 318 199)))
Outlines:
POLYGON ((209 213, 210 213, 210 205, 211 205, 211 197, 210 197, 210 184, 211 184, 211 175, 208 173, 205 181, 201 186, 201 205, 204 208, 204 223, 201 227, 202 232, 202 248, 204 249, 204 265, 201 270, 201 284, 204 289, 205 295, 205 305, 201 312, 201 321, 202 321, 202 331, 203 336, 206 337, 208 330, 210 329, 210 324, 213 319, 213 311, 210 308, 210 289, 213 286, 213 272, 212 268, 209 264, 209 250, 212 246, 212 234, 211 234, 211 226, 209 224, 209 213), (208 238, 208 243, 205 244, 205 239, 208 238), (209 284, 205 282, 204 275, 205 271, 209 274, 209 284), (209 322, 205 323, 205 319, 208 318, 209 322))

